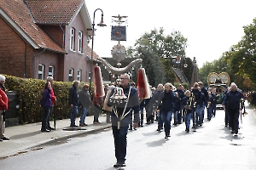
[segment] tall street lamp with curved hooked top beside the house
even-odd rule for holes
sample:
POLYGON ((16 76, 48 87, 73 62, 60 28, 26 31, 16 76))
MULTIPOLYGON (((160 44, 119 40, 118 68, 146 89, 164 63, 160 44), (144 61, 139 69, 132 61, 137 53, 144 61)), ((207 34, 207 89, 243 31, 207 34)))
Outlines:
MULTIPOLYGON (((91 36, 91 54, 90 54, 90 95, 91 95, 91 98, 92 98, 92 93, 91 93, 91 79, 93 77, 93 74, 92 74, 92 65, 93 65, 93 42, 94 42, 94 26, 95 26, 95 13, 97 10, 101 10, 101 8, 96 8, 96 10, 94 11, 93 13, 93 22, 92 22, 92 36, 91 36)), ((97 26, 107 26, 103 23, 103 11, 102 11, 102 20, 99 24, 97 24, 97 26)))

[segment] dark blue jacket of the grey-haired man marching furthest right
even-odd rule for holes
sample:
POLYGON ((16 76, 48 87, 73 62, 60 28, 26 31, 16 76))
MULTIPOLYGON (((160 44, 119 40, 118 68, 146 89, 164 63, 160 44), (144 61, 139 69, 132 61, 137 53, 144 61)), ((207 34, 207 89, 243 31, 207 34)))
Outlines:
POLYGON ((229 109, 239 109, 240 108, 240 101, 243 99, 243 95, 238 92, 231 91, 228 92, 224 99, 224 105, 227 106, 229 109))

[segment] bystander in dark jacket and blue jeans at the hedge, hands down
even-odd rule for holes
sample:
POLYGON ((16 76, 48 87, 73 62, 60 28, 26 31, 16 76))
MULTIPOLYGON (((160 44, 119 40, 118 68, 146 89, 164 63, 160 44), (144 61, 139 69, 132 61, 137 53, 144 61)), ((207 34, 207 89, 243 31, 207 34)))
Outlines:
POLYGON ((71 114, 70 114, 70 127, 78 127, 76 125, 76 117, 79 114, 79 81, 75 80, 73 81, 73 86, 69 88, 69 94, 68 94, 68 104, 71 107, 71 114))

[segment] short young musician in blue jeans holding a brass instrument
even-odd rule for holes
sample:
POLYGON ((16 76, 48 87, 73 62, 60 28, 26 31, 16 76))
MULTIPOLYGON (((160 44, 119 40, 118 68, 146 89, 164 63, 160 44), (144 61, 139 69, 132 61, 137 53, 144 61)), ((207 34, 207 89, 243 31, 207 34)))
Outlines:
POLYGON ((191 93, 189 90, 187 90, 184 94, 185 94, 185 97, 182 99, 182 103, 184 105, 184 113, 185 113, 185 124, 186 124, 185 131, 189 133, 190 120, 191 120, 192 110, 193 110, 193 96, 191 96, 191 93))

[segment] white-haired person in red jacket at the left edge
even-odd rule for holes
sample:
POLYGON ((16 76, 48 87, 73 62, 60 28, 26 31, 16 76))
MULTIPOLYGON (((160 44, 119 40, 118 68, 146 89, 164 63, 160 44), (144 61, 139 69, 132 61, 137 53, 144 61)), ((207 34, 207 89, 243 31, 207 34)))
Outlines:
POLYGON ((8 102, 9 99, 5 94, 4 87, 5 77, 0 75, 0 141, 9 140, 6 136, 4 136, 5 131, 5 111, 8 110, 8 102))

